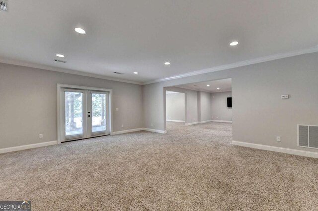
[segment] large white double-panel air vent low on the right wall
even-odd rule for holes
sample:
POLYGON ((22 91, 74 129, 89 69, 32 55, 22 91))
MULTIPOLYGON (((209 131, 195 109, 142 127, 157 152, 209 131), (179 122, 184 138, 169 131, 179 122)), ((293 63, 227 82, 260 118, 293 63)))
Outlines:
POLYGON ((297 146, 318 149, 318 126, 297 125, 297 146))

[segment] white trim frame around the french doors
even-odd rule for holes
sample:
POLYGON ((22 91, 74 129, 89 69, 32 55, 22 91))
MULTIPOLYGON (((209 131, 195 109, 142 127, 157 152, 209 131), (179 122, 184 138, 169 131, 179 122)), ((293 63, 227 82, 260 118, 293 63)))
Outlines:
POLYGON ((86 87, 86 86, 78 86, 78 85, 70 85, 70 84, 57 84, 57 137, 58 137, 58 144, 62 141, 62 132, 61 127, 63 125, 63 113, 61 112, 61 92, 64 88, 70 89, 82 89, 82 90, 95 90, 95 91, 106 91, 109 92, 109 134, 113 135, 113 89, 105 89, 105 88, 98 88, 98 87, 86 87))

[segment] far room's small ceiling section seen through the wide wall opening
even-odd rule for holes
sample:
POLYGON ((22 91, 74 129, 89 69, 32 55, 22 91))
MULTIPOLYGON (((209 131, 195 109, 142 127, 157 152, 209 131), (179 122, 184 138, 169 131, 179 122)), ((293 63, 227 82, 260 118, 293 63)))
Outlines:
POLYGON ((175 87, 197 90, 197 91, 205 91, 205 92, 228 92, 228 91, 231 91, 231 78, 215 80, 215 81, 205 81, 205 82, 192 83, 192 84, 183 84, 183 85, 178 85, 175 87), (207 85, 210 85, 210 86, 207 86, 207 85))

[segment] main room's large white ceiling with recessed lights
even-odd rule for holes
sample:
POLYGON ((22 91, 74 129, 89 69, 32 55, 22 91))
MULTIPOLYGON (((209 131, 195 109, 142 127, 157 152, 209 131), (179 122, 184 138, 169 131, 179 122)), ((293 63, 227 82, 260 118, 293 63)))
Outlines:
POLYGON ((0 62, 145 83, 317 47, 317 14, 317 0, 9 0, 0 62))

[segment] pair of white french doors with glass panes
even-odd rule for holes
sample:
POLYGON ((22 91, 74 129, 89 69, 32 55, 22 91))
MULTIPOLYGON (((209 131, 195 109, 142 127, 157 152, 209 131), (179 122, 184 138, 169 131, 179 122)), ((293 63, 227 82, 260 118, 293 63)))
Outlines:
POLYGON ((109 92, 62 88, 62 142, 109 134, 109 92))

